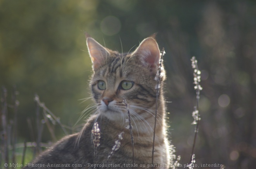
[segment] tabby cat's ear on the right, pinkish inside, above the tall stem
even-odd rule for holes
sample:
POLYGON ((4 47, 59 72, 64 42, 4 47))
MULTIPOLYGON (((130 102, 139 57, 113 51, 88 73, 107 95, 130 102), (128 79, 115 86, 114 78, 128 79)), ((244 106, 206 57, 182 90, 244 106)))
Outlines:
POLYGON ((150 69, 150 72, 156 74, 159 66, 160 50, 156 40, 153 37, 144 39, 133 55, 140 57, 143 66, 150 69))

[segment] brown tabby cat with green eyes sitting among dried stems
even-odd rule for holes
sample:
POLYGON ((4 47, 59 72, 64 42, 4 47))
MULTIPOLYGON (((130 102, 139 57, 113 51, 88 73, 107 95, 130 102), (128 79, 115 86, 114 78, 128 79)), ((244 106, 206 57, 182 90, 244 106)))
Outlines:
MULTIPOLYGON (((128 53, 107 49, 89 35, 86 42, 93 69, 90 87, 97 110, 80 133, 62 138, 25 168, 151 168, 156 74, 159 73, 161 58, 155 37, 144 39, 135 51, 128 53), (128 129, 128 111, 131 131, 128 129), (95 135, 92 134, 93 128, 95 135)), ((160 85, 164 73, 162 65, 160 85)), ((159 88, 157 100, 154 168, 170 166, 162 90, 159 88)))

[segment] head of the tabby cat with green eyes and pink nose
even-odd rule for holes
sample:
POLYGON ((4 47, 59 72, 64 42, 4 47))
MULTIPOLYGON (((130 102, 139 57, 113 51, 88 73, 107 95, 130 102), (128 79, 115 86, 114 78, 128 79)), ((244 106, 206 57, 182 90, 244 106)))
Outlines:
MULTIPOLYGON (((99 113, 110 120, 127 118, 125 98, 135 119, 152 116, 161 56, 154 37, 144 39, 135 51, 128 53, 107 49, 91 37, 87 37, 87 46, 94 72, 91 89, 99 113)), ((163 81, 164 70, 161 74, 163 81)))

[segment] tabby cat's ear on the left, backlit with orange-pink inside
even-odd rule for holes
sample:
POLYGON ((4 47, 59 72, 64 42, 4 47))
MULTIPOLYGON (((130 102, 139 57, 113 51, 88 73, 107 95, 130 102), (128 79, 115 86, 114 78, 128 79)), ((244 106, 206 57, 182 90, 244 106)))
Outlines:
POLYGON ((90 57, 92 59, 92 68, 93 71, 95 71, 104 63, 104 61, 106 61, 106 57, 110 54, 105 47, 95 41, 92 37, 87 37, 86 43, 90 57))

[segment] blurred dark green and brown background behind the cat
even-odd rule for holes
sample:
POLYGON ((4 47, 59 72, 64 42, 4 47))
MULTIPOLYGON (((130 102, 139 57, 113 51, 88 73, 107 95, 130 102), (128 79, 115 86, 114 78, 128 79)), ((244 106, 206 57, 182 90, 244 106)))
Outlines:
POLYGON ((84 32, 119 52, 157 33, 166 51, 170 139, 182 165, 194 138, 196 56, 203 90, 195 164, 255 168, 254 0, 0 0, 0 168, 6 160, 31 161, 33 142, 54 142, 84 123, 76 123, 92 103, 81 100, 90 97, 92 74, 84 32))

